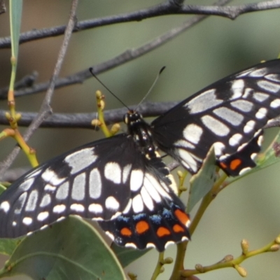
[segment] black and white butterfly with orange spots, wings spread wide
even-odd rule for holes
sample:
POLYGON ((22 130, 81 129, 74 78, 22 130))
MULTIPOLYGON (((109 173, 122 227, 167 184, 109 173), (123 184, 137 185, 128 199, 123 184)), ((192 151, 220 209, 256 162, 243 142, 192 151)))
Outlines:
POLYGON ((94 141, 32 169, 0 196, 0 237, 19 237, 71 214, 99 221, 120 246, 190 238, 190 220, 158 149, 198 172, 212 145, 237 176, 255 166, 262 129, 280 115, 280 59, 209 85, 148 125, 125 115, 127 133, 94 141))

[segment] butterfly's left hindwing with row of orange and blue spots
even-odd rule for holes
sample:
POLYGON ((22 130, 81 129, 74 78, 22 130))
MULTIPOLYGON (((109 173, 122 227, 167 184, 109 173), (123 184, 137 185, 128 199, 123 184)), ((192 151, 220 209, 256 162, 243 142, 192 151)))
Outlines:
POLYGON ((99 225, 119 246, 164 251, 169 244, 190 239, 190 218, 170 188, 171 177, 162 160, 146 161, 149 165, 137 180, 138 190, 132 192, 131 206, 99 225))

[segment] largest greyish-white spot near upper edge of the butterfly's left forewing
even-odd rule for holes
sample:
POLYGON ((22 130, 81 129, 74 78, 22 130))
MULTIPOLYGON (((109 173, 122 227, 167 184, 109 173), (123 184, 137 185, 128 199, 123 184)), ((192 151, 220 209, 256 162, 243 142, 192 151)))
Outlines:
POLYGON ((83 150, 71 153, 71 155, 67 155, 64 162, 72 168, 71 174, 75 174, 92 165, 97 158, 97 155, 94 155, 94 148, 84 148, 83 150))

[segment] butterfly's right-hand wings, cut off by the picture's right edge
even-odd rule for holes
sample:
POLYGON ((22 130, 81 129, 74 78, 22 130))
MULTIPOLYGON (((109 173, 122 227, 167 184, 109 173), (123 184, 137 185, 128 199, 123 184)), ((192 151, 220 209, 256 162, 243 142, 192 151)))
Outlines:
POLYGON ((280 115, 280 59, 219 80, 152 123, 160 148, 196 173, 214 145, 217 163, 236 176, 254 167, 262 129, 280 115))

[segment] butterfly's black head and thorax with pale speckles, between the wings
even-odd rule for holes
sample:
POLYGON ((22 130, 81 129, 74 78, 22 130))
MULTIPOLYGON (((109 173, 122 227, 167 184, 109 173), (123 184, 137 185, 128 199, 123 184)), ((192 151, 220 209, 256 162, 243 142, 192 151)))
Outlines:
POLYGON ((141 114, 129 111, 125 114, 124 122, 127 125, 128 134, 134 138, 141 153, 148 159, 157 158, 157 148, 153 141, 151 126, 145 122, 141 114))

